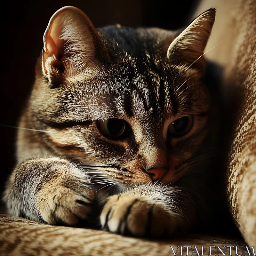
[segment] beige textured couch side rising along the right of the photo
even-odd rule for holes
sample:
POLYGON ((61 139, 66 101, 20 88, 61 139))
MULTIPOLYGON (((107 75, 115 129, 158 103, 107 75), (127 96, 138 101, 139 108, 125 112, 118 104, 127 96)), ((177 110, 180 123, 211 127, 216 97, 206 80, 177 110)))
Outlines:
POLYGON ((224 66, 225 89, 237 105, 228 156, 230 211, 249 245, 256 245, 256 1, 207 0, 217 7, 208 59, 224 66))

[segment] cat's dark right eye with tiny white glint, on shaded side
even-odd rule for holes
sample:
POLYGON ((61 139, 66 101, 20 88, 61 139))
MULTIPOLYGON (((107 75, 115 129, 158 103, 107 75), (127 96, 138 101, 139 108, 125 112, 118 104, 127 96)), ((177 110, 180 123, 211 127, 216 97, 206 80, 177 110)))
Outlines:
POLYGON ((193 126, 193 116, 184 116, 173 121, 169 125, 168 131, 171 136, 179 137, 188 133, 192 128, 192 126, 193 126))

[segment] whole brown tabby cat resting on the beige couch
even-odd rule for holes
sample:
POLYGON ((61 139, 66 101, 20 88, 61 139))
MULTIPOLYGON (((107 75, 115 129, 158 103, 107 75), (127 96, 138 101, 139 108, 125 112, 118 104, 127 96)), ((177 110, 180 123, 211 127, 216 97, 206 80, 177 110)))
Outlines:
POLYGON ((96 30, 75 7, 55 12, 20 119, 9 213, 148 237, 213 223, 218 111, 202 55, 214 20, 209 9, 182 32, 96 30))

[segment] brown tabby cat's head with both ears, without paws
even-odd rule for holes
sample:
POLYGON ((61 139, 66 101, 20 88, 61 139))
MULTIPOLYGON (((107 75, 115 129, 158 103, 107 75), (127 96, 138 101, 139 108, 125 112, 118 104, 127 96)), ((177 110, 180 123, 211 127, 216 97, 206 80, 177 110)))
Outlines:
POLYGON ((210 9, 181 33, 97 32, 81 10, 57 11, 30 100, 36 128, 52 131, 44 142, 59 155, 107 163, 98 171, 125 186, 178 180, 209 143, 202 55, 214 19, 210 9))

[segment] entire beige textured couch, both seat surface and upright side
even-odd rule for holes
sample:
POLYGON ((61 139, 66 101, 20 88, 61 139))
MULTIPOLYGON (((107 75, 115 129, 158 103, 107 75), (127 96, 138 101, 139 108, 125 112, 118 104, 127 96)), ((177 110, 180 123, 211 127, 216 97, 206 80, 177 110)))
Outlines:
MULTIPOLYGON (((203 1, 195 16, 212 6, 217 7, 216 23, 206 51, 221 43, 205 56, 224 67, 224 89, 232 93, 234 105, 227 161, 229 208, 252 247, 256 245, 256 1, 203 1)), ((209 246, 238 246, 241 254, 245 242, 210 235, 156 241, 0 215, 0 255, 173 255, 170 246, 174 251, 177 246, 204 246, 204 254, 209 246)))

